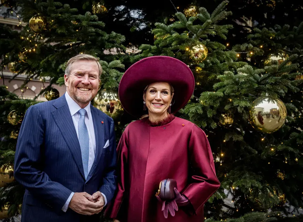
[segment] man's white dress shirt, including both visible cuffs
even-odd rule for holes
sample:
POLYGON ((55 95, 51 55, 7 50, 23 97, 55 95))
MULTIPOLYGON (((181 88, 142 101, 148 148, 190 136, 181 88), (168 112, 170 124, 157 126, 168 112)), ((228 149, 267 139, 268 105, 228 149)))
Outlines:
MULTIPOLYGON (((69 112, 72 116, 73 119, 73 123, 76 129, 76 133, 77 133, 77 137, 79 139, 79 135, 78 135, 78 122, 80 119, 80 114, 78 113, 78 111, 81 109, 81 107, 69 96, 69 94, 65 93, 65 98, 66 98, 66 102, 67 105, 69 107, 69 112)), ((88 131, 88 137, 89 137, 89 156, 88 156, 88 172, 91 170, 92 165, 94 163, 95 160, 95 153, 96 153, 96 138, 95 138, 95 130, 94 130, 94 123, 92 120, 92 113, 91 113, 91 103, 89 102, 89 104, 87 106, 84 107, 84 109, 86 110, 86 114, 84 117, 84 121, 85 121, 85 125, 87 127, 87 131, 88 131)), ((67 199, 67 201, 65 202, 62 210, 64 212, 66 212, 69 202, 72 199, 74 195, 74 192, 72 192, 69 195, 69 198, 67 199)), ((106 196, 104 194, 102 194, 104 196, 105 199, 105 204, 104 206, 107 204, 107 199, 106 196)))

